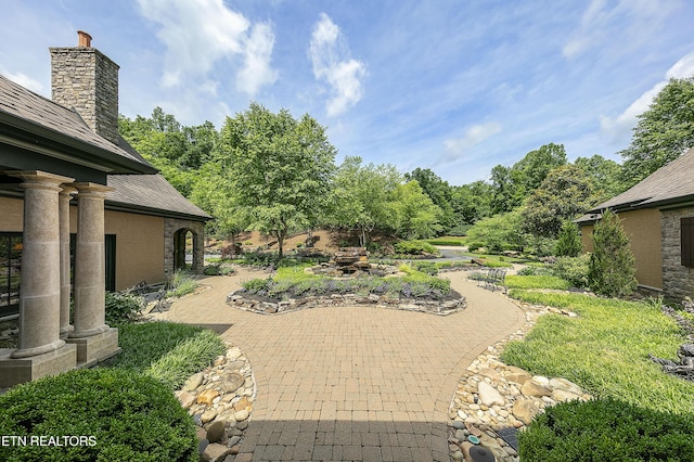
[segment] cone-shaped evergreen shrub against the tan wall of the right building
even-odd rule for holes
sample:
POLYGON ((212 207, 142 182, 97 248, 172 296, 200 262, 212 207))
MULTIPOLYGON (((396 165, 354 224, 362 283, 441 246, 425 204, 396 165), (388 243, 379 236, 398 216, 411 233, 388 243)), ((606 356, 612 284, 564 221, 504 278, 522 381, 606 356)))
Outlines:
POLYGON ((635 260, 620 219, 608 209, 593 229, 588 283, 596 294, 628 295, 637 288, 635 260))

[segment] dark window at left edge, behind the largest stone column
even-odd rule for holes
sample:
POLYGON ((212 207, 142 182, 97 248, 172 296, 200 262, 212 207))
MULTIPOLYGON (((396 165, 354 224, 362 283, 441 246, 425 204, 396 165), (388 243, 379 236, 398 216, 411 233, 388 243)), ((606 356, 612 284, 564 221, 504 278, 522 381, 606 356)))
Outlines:
POLYGON ((22 280, 22 233, 0 232, 0 318, 16 313, 22 280))

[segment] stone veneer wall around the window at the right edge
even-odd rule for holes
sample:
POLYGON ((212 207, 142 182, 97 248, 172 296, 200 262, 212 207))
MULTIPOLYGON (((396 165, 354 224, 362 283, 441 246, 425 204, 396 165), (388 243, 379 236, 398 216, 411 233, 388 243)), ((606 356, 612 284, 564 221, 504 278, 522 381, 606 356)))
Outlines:
POLYGON ((694 296, 694 268, 683 267, 681 260, 680 218, 686 217, 694 217, 694 207, 660 210, 663 292, 676 300, 694 296))

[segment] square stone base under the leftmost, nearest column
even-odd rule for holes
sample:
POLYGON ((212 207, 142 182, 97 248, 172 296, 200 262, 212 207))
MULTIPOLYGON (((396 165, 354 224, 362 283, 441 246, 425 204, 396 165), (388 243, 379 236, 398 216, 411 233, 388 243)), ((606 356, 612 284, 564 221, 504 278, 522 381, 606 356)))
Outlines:
POLYGON ((77 347, 63 347, 29 358, 11 358, 12 349, 0 349, 0 388, 35 381, 46 375, 57 375, 75 369, 77 347))

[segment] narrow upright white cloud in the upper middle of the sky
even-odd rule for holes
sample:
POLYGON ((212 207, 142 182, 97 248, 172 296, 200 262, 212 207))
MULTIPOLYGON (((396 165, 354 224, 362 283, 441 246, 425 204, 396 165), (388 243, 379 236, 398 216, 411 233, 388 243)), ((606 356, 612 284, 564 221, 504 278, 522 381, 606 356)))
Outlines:
POLYGON ((325 13, 313 25, 309 55, 313 76, 331 87, 326 110, 336 116, 361 100, 361 78, 367 75, 364 63, 350 57, 349 47, 339 27, 325 13))

